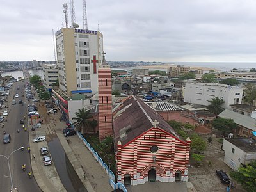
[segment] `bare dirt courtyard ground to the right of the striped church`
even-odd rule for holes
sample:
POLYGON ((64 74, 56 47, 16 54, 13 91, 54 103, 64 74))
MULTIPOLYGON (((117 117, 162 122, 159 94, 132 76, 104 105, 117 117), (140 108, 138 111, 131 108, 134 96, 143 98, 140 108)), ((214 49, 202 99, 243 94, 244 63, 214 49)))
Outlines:
MULTIPOLYGON (((217 177, 215 170, 221 169, 225 172, 230 172, 231 168, 224 163, 224 151, 221 150, 221 143, 218 139, 222 138, 221 133, 218 131, 212 131, 209 134, 201 134, 207 141, 207 148, 202 152, 205 156, 202 164, 197 167, 195 160, 189 159, 189 182, 192 182, 196 191, 226 191, 227 184, 221 184, 220 179, 217 177), (212 137, 211 143, 208 142, 208 138, 212 137), (216 138, 215 138, 216 137, 216 138)), ((230 180, 234 182, 234 187, 230 191, 240 192, 243 191, 239 184, 236 184, 230 177, 230 180)), ((192 190, 193 191, 193 190, 192 190)))

